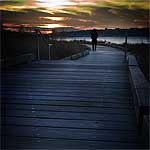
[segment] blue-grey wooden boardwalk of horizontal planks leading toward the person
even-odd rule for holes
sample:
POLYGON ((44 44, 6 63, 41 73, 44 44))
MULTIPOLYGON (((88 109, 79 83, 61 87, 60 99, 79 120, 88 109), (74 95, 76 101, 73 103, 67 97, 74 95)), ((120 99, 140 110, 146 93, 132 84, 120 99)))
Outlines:
POLYGON ((2 147, 138 148, 124 53, 99 46, 78 60, 2 72, 2 147))

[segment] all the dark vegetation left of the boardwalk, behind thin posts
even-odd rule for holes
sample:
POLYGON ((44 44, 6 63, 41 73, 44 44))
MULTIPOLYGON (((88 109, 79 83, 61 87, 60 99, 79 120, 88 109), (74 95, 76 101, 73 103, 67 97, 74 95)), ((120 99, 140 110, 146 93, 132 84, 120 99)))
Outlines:
MULTIPOLYGON (((72 54, 88 49, 80 42, 50 41, 48 35, 44 35, 47 43, 39 37, 40 59, 48 59, 48 43, 52 43, 51 58, 61 59, 72 54)), ((1 59, 16 57, 32 53, 37 57, 37 35, 35 33, 19 33, 2 31, 1 59)))

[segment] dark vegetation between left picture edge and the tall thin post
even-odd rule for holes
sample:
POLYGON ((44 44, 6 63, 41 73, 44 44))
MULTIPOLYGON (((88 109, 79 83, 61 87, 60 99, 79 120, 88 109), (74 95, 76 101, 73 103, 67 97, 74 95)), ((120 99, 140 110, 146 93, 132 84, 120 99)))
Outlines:
MULTIPOLYGON (((11 58, 23 54, 36 54, 37 39, 33 33, 18 33, 2 31, 1 59, 11 58)), ((44 45, 43 45, 44 46, 44 45)))

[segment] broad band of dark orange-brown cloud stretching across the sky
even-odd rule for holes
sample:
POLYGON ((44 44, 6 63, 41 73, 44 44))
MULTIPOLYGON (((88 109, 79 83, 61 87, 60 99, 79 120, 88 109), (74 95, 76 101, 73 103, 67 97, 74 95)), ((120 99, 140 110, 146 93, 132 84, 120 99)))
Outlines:
POLYGON ((90 7, 87 5, 80 7, 80 10, 70 7, 54 13, 46 10, 42 7, 21 9, 19 11, 3 10, 1 13, 2 22, 15 25, 30 24, 31 26, 62 24, 64 26, 81 27, 84 29, 93 27, 127 28, 146 26, 146 20, 149 18, 148 9, 129 9, 125 6, 102 7, 100 5, 93 5, 90 7), (65 19, 52 20, 44 17, 64 17, 65 19))

